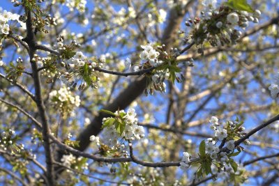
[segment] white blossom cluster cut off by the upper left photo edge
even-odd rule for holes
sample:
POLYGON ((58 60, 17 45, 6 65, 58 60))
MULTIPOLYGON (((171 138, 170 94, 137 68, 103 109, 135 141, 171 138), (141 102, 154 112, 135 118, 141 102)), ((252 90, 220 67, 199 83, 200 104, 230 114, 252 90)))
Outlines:
POLYGON ((0 34, 8 35, 10 31, 10 26, 8 24, 9 21, 17 21, 21 24, 21 26, 25 26, 23 22, 19 20, 20 15, 15 13, 10 13, 7 10, 3 10, 0 12, 0 34))

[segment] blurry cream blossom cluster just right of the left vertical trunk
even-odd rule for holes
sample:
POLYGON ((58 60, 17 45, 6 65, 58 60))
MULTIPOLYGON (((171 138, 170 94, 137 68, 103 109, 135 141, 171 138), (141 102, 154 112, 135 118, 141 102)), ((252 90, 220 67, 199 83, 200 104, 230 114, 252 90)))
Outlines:
POLYGON ((80 96, 73 96, 70 88, 63 86, 59 91, 50 92, 50 100, 56 109, 61 111, 63 116, 74 114, 73 109, 80 106, 80 96))

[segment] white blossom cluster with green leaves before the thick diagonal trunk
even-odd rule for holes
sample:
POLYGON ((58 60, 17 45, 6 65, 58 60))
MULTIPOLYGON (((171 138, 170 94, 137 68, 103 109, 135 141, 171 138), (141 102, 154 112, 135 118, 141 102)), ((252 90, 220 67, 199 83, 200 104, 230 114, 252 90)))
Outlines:
POLYGON ((135 139, 141 139, 144 137, 144 127, 137 125, 137 114, 135 113, 135 109, 128 109, 127 113, 123 110, 116 111, 116 118, 103 118, 103 126, 107 126, 104 128, 103 134, 105 139, 107 140, 107 144, 109 146, 119 145, 119 138, 133 141, 135 139), (111 125, 110 125, 111 123, 111 125))

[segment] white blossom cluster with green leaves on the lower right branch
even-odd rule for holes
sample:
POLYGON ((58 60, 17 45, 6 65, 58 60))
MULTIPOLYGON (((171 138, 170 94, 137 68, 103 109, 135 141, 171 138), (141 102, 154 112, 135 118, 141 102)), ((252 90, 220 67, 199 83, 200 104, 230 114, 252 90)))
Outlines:
MULTIPOLYGON (((244 135, 243 130, 245 128, 242 127, 243 122, 239 122, 239 119, 227 121, 227 124, 223 127, 216 116, 212 116, 209 122, 211 123, 211 129, 214 130, 215 137, 206 139, 206 141, 202 141, 199 145, 199 160, 191 162, 190 155, 187 152, 183 152, 180 163, 181 169, 188 169, 192 163, 200 163, 201 166, 197 171, 197 177, 201 177, 203 173, 206 175, 208 173, 213 174, 211 169, 217 170, 214 173, 216 175, 222 174, 222 172, 225 172, 226 175, 228 173, 236 173, 239 164, 236 164, 232 157, 238 155, 243 150, 242 147, 235 146, 235 140, 240 139, 244 135), (218 141, 220 141, 220 145, 218 145, 218 141), (224 146, 225 148, 223 148, 224 146), (235 149, 238 150, 236 153, 234 152, 235 149), (208 163, 204 164, 204 162, 208 163)), ((250 144, 250 142, 246 140, 245 144, 250 144)))

